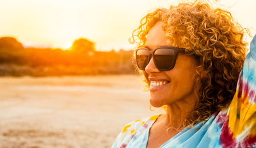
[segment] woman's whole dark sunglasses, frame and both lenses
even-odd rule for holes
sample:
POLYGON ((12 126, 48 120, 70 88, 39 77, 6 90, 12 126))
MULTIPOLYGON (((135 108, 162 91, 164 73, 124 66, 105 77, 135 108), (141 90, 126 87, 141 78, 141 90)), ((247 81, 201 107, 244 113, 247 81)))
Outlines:
POLYGON ((138 48, 136 50, 136 62, 138 68, 145 70, 147 64, 153 57, 154 63, 159 70, 173 69, 178 53, 184 53, 185 48, 162 46, 153 51, 148 48, 138 48))

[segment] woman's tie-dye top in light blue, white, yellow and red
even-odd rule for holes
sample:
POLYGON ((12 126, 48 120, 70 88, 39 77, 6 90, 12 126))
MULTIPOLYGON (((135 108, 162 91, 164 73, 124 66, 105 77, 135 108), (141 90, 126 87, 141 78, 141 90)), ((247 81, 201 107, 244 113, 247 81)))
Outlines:
MULTIPOLYGON (((127 124, 112 148, 145 148, 158 116, 127 124)), ((160 147, 256 147, 256 36, 229 107, 213 114, 204 124, 199 122, 195 128, 200 129, 185 128, 160 147)))

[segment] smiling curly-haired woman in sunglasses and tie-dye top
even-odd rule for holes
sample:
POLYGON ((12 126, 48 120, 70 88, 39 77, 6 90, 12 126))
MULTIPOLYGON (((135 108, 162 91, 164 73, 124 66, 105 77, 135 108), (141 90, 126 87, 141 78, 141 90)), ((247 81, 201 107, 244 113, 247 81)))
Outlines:
POLYGON ((127 124, 112 147, 256 146, 256 49, 241 71, 244 34, 229 12, 200 2, 143 17, 136 61, 151 105, 166 114, 127 124))

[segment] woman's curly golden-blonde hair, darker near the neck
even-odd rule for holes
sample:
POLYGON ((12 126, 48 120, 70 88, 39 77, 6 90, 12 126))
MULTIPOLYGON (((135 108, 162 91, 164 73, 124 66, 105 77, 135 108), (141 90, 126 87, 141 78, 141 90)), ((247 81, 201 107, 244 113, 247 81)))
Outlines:
POLYGON ((130 42, 143 47, 148 32, 158 21, 163 22, 169 44, 185 47, 185 53, 196 55, 200 63, 197 75, 200 67, 205 70, 205 77, 195 80, 201 82, 201 87, 195 88, 196 108, 183 121, 183 126, 194 127, 231 102, 247 52, 243 37, 249 31, 234 21, 228 11, 196 1, 148 13, 133 31, 130 42))

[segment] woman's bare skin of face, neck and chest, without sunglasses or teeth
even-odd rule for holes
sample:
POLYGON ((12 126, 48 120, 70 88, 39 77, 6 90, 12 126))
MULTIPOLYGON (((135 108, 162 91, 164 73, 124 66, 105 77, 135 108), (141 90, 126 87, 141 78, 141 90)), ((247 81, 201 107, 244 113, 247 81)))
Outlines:
MULTIPOLYGON (((148 32, 145 46, 154 50, 159 46, 169 45, 164 37, 162 22, 157 22, 148 32)), ((179 46, 182 47, 182 46, 179 46)), ((185 47, 184 47, 185 48, 185 47)), ((147 147, 160 147, 183 128, 183 120, 193 111, 197 103, 195 77, 198 63, 188 55, 179 54, 175 67, 167 71, 157 69, 153 58, 143 70, 150 86, 150 103, 154 107, 167 105, 166 114, 161 115, 150 129, 147 147), (151 86, 151 83, 168 82, 165 85, 151 86), (169 118, 170 117, 170 118, 169 118), (171 125, 170 129, 166 131, 171 125)), ((198 83, 198 82, 197 82, 198 83)))

